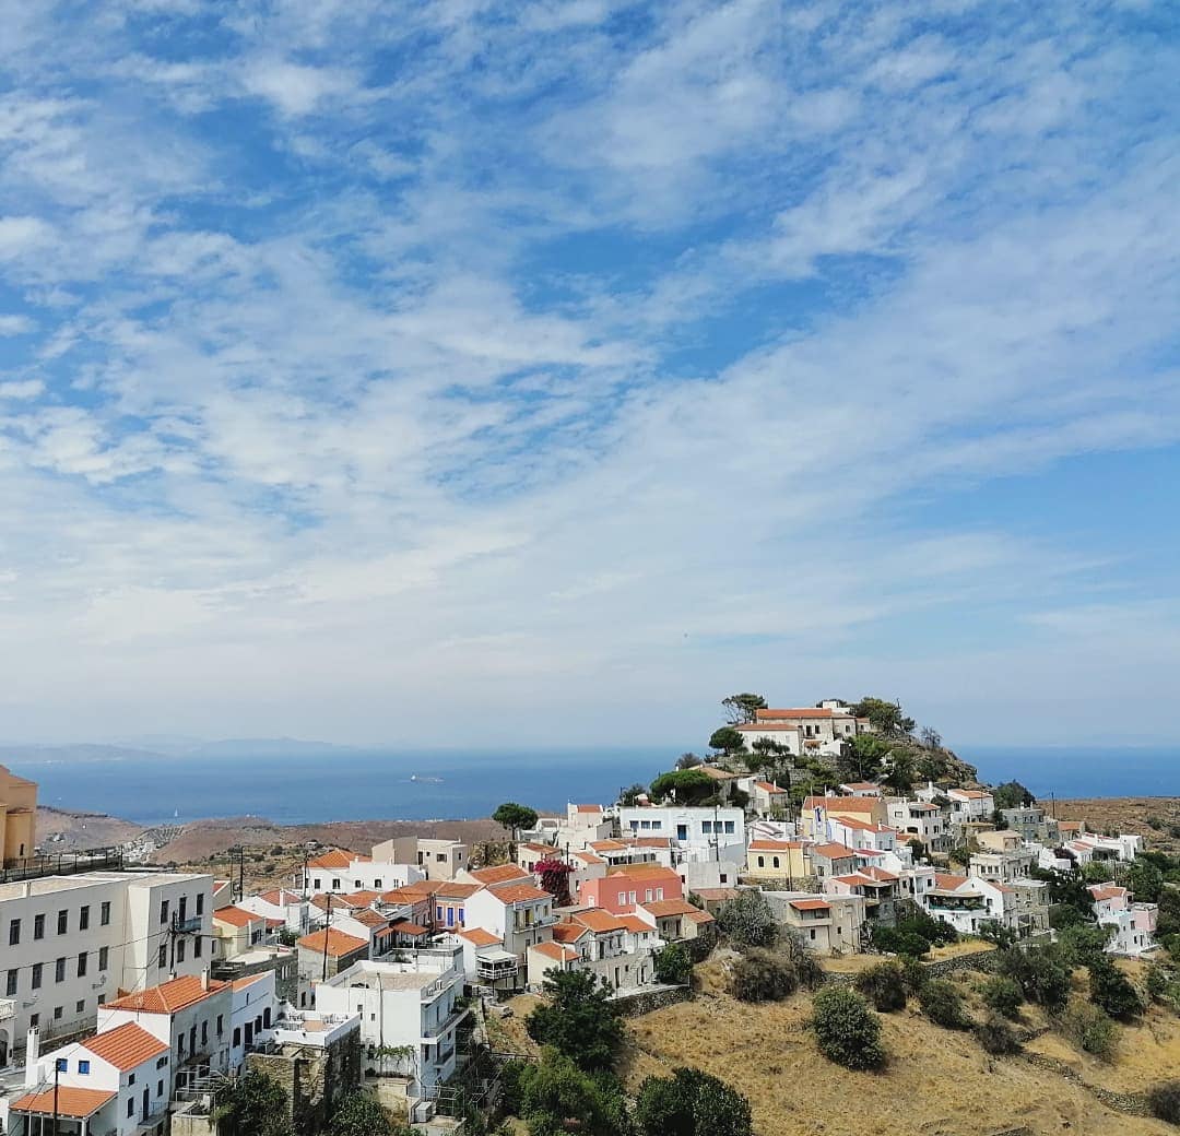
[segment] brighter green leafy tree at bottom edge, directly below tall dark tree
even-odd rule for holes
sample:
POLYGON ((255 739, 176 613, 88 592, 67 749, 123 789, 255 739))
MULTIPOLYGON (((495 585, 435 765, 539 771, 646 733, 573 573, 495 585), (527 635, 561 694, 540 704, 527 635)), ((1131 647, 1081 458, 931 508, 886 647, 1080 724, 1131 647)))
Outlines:
POLYGON ((520 1072, 520 1114, 530 1136, 560 1136, 577 1122, 585 1136, 627 1131, 627 1111, 614 1077, 594 1077, 575 1061, 545 1049, 520 1072))

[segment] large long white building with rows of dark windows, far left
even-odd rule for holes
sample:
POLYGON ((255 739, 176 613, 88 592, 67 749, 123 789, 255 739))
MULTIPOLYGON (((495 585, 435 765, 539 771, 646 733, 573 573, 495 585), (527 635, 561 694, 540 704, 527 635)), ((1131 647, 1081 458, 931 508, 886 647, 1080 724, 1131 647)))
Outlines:
POLYGON ((31 1026, 45 1042, 93 1029, 123 991, 201 974, 212 876, 92 872, 0 884, 0 1068, 31 1026))

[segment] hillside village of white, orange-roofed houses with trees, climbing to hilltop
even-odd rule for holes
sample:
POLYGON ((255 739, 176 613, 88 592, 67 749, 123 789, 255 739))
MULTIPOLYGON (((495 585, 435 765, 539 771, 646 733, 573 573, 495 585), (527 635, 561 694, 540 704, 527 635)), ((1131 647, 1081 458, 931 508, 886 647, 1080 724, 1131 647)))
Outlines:
MULTIPOLYGON (((308 847, 253 894, 44 856, 37 786, 0 769, 0 1131, 868 1132, 773 1118, 691 1046, 638 1071, 701 999, 806 997, 807 1059, 847 1077, 897 1066, 899 1012, 989 1063, 1057 1059, 1040 1036, 1109 1062, 1180 1005, 1180 862, 1142 836, 979 782, 881 700, 722 705, 708 754, 616 801, 505 802, 494 841, 308 847)), ((1168 1072, 1115 1091, 1074 1070, 1099 1119, 1075 1131, 1167 1130, 1168 1072)))

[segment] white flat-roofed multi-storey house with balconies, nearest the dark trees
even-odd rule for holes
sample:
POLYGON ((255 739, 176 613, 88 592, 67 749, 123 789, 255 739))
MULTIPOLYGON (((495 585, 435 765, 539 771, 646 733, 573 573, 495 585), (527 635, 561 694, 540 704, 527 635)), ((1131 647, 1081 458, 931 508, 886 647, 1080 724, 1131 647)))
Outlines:
POLYGON ((422 1097, 454 1072, 455 1032, 467 1014, 455 1005, 463 976, 458 944, 415 952, 401 963, 355 963, 316 983, 315 1005, 327 1013, 360 1014, 369 1059, 409 1077, 409 1095, 422 1097), (391 1057, 381 1050, 400 1052, 391 1057))

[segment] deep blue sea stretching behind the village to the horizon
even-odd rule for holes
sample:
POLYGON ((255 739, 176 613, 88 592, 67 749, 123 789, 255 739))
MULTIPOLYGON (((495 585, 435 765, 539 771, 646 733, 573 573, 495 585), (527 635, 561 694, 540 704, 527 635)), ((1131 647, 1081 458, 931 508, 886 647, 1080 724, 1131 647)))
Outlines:
MULTIPOLYGON (((341 820, 461 820, 504 801, 564 810, 614 801, 669 769, 682 747, 407 753, 334 747, 322 753, 39 759, 7 757, 40 786, 41 803, 145 826, 215 816, 280 825, 341 820)), ((1016 779, 1038 799, 1180 796, 1180 747, 956 748, 991 783, 1016 779)))

